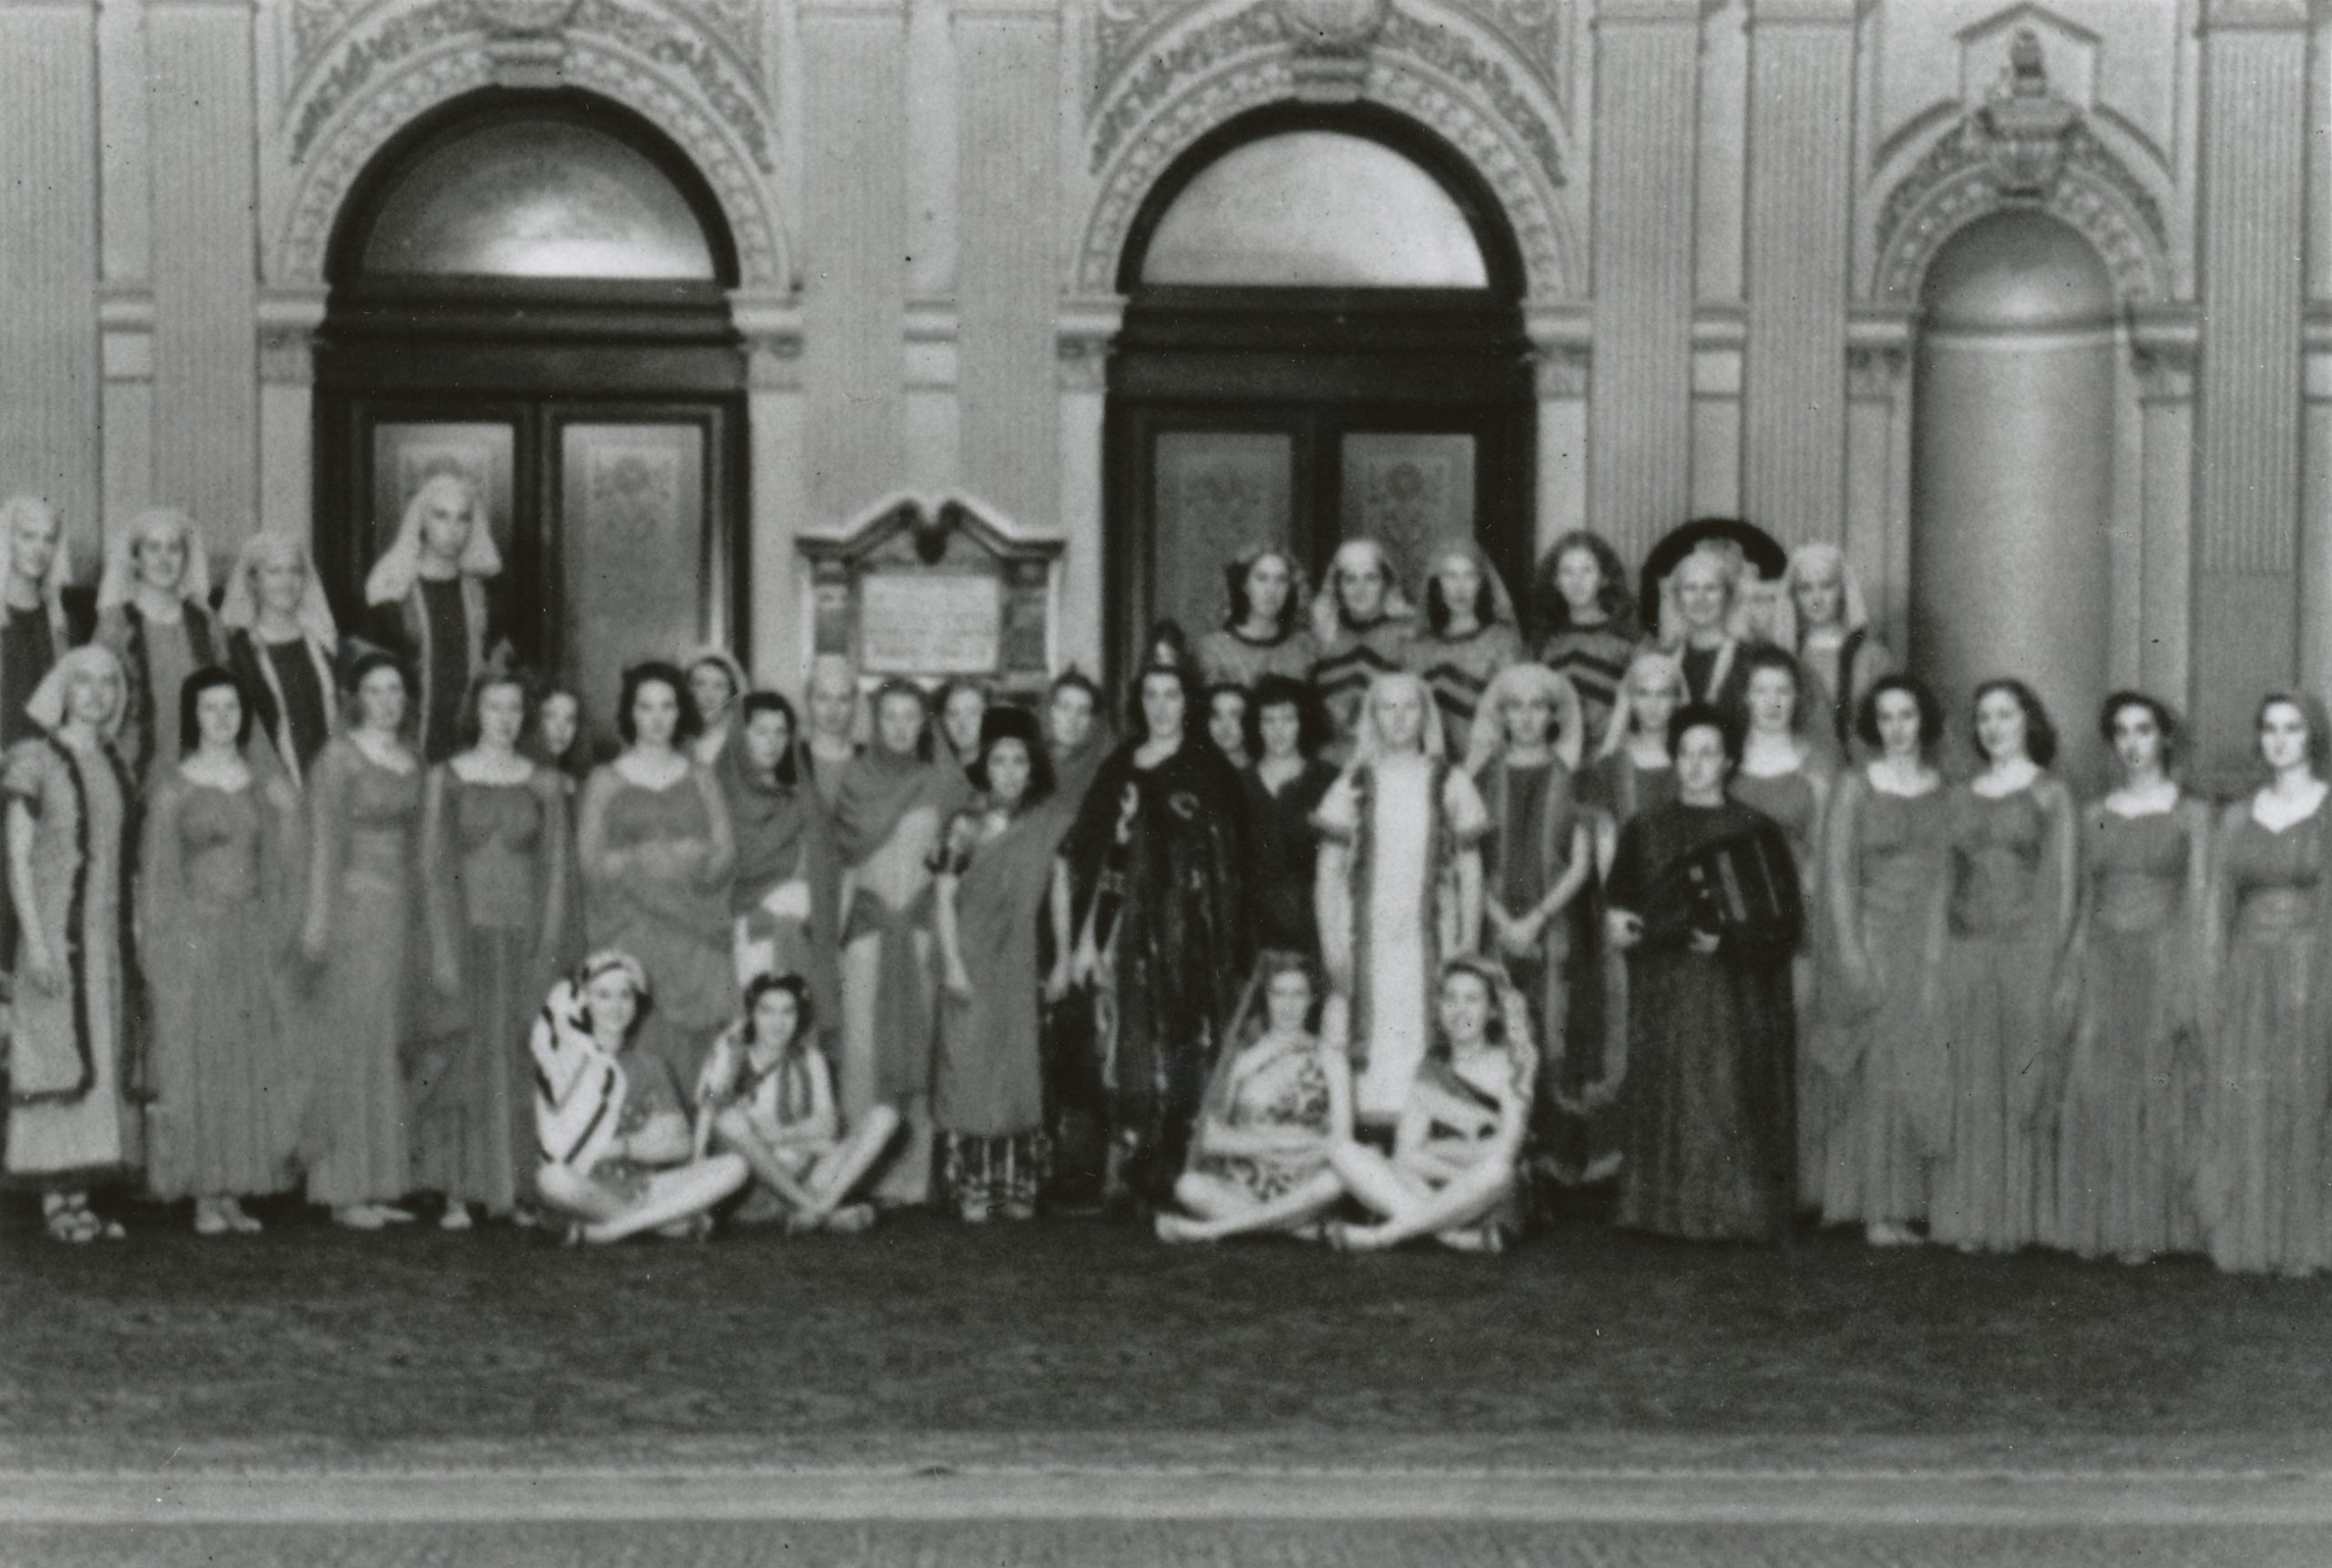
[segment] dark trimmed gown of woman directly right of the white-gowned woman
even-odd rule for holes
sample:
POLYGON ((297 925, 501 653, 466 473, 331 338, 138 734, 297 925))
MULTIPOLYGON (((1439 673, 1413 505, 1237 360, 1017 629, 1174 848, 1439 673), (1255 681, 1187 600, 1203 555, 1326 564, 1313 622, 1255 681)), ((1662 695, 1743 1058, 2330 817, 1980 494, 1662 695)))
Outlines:
MULTIPOLYGON (((1476 781, 1490 825, 1483 839, 1483 888, 1509 916, 1537 909, 1572 867, 1581 825, 1572 771, 1548 757, 1537 764, 1492 762, 1476 781)), ((1506 976, 1532 1011, 1532 1039, 1544 1041, 1532 1095, 1532 1153, 1553 1181, 1604 1181, 1618 1170, 1618 1097, 1604 1023, 1602 951, 1588 930, 1586 888, 1539 934, 1527 958, 1499 951, 1506 976)), ((1483 939, 1488 946, 1490 939, 1483 939)))

